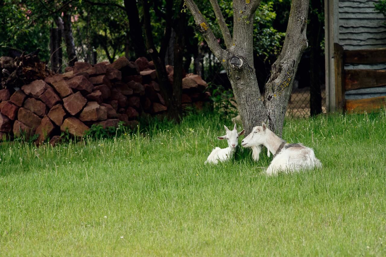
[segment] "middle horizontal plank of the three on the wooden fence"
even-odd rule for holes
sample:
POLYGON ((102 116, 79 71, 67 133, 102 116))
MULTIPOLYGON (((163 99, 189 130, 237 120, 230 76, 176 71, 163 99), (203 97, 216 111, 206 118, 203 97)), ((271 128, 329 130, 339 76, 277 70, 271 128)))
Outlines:
POLYGON ((344 71, 345 91, 367 87, 386 86, 386 70, 357 70, 344 71))

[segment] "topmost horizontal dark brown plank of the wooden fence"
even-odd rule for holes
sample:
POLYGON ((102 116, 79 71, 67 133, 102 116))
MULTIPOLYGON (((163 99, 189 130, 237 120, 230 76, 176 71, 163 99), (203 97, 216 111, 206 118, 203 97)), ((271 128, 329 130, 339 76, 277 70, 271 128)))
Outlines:
POLYGON ((345 63, 372 64, 386 62, 386 48, 345 50, 343 53, 345 63))

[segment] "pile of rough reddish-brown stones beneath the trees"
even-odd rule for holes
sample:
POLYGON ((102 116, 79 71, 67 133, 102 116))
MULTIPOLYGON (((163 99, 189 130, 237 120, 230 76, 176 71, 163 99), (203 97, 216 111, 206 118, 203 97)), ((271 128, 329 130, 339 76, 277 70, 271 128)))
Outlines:
MULTIPOLYGON (((167 70, 172 82, 173 67, 167 70)), ((206 87, 200 76, 187 74, 184 107, 201 108, 210 96, 206 87)), ((84 136, 93 124, 107 128, 120 121, 134 129, 139 116, 166 111, 154 65, 146 58, 130 62, 121 57, 95 66, 76 62, 64 74, 0 90, 0 139, 38 134, 36 144, 47 139, 54 144, 63 131, 84 136)))

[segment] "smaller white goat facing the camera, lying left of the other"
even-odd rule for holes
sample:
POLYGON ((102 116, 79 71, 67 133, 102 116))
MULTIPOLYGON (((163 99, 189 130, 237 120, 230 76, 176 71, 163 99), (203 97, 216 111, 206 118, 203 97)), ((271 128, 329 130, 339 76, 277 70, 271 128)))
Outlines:
POLYGON ((212 150, 210 155, 208 156, 208 159, 205 161, 205 164, 207 163, 213 163, 217 164, 218 161, 226 161, 231 158, 236 150, 237 145, 239 144, 239 136, 244 134, 245 129, 243 129, 241 132, 237 133, 237 125, 235 124, 233 130, 229 130, 227 126, 224 125, 225 131, 227 131, 227 134, 225 136, 218 136, 217 139, 223 140, 227 139, 228 147, 221 149, 220 147, 216 147, 212 150))

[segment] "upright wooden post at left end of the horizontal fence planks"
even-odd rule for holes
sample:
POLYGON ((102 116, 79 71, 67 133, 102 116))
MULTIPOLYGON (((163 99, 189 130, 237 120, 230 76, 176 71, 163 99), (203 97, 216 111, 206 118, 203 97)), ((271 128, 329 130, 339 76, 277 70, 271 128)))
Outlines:
POLYGON ((335 106, 337 110, 344 108, 344 62, 343 47, 334 43, 334 64, 335 64, 335 106))

